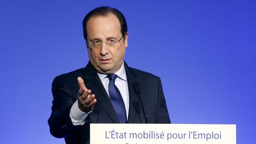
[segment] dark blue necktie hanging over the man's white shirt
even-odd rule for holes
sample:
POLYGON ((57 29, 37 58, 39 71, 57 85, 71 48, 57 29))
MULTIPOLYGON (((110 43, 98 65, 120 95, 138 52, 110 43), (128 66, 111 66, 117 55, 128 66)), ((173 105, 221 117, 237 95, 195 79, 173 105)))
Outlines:
POLYGON ((110 80, 110 82, 108 83, 108 93, 110 95, 114 110, 116 111, 120 123, 126 123, 126 109, 124 106, 123 98, 121 97, 119 89, 114 84, 117 75, 113 73, 108 75, 107 77, 110 80))

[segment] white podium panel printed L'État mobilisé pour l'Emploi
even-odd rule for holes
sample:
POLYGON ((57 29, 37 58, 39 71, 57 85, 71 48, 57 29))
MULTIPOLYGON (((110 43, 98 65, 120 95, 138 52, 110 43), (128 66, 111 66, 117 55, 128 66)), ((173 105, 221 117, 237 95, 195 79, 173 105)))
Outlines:
POLYGON ((236 144, 235 124, 91 124, 91 144, 236 144))

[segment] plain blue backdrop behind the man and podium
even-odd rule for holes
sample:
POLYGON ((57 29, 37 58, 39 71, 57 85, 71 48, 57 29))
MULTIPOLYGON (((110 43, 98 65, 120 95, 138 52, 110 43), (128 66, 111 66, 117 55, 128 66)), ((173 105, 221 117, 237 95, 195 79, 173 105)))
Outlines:
POLYGON ((64 143, 47 119, 55 76, 88 62, 82 19, 120 9, 126 62, 162 79, 172 123, 237 124, 256 130, 256 1, 0 1, 0 143, 64 143))

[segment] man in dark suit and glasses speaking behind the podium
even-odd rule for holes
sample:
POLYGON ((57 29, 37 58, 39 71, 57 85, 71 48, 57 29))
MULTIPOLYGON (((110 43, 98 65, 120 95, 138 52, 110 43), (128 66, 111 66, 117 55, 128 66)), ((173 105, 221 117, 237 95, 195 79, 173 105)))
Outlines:
POLYGON ((128 46, 123 14, 95 8, 83 28, 89 62, 53 80, 52 135, 66 143, 89 143, 90 123, 170 123, 161 80, 123 60, 128 46))

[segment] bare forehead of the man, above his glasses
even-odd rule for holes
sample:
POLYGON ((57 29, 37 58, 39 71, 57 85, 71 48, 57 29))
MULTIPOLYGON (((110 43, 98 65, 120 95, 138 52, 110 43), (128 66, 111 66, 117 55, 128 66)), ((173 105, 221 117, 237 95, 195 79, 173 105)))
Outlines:
POLYGON ((114 14, 94 15, 87 23, 88 39, 119 36, 121 25, 114 14))

